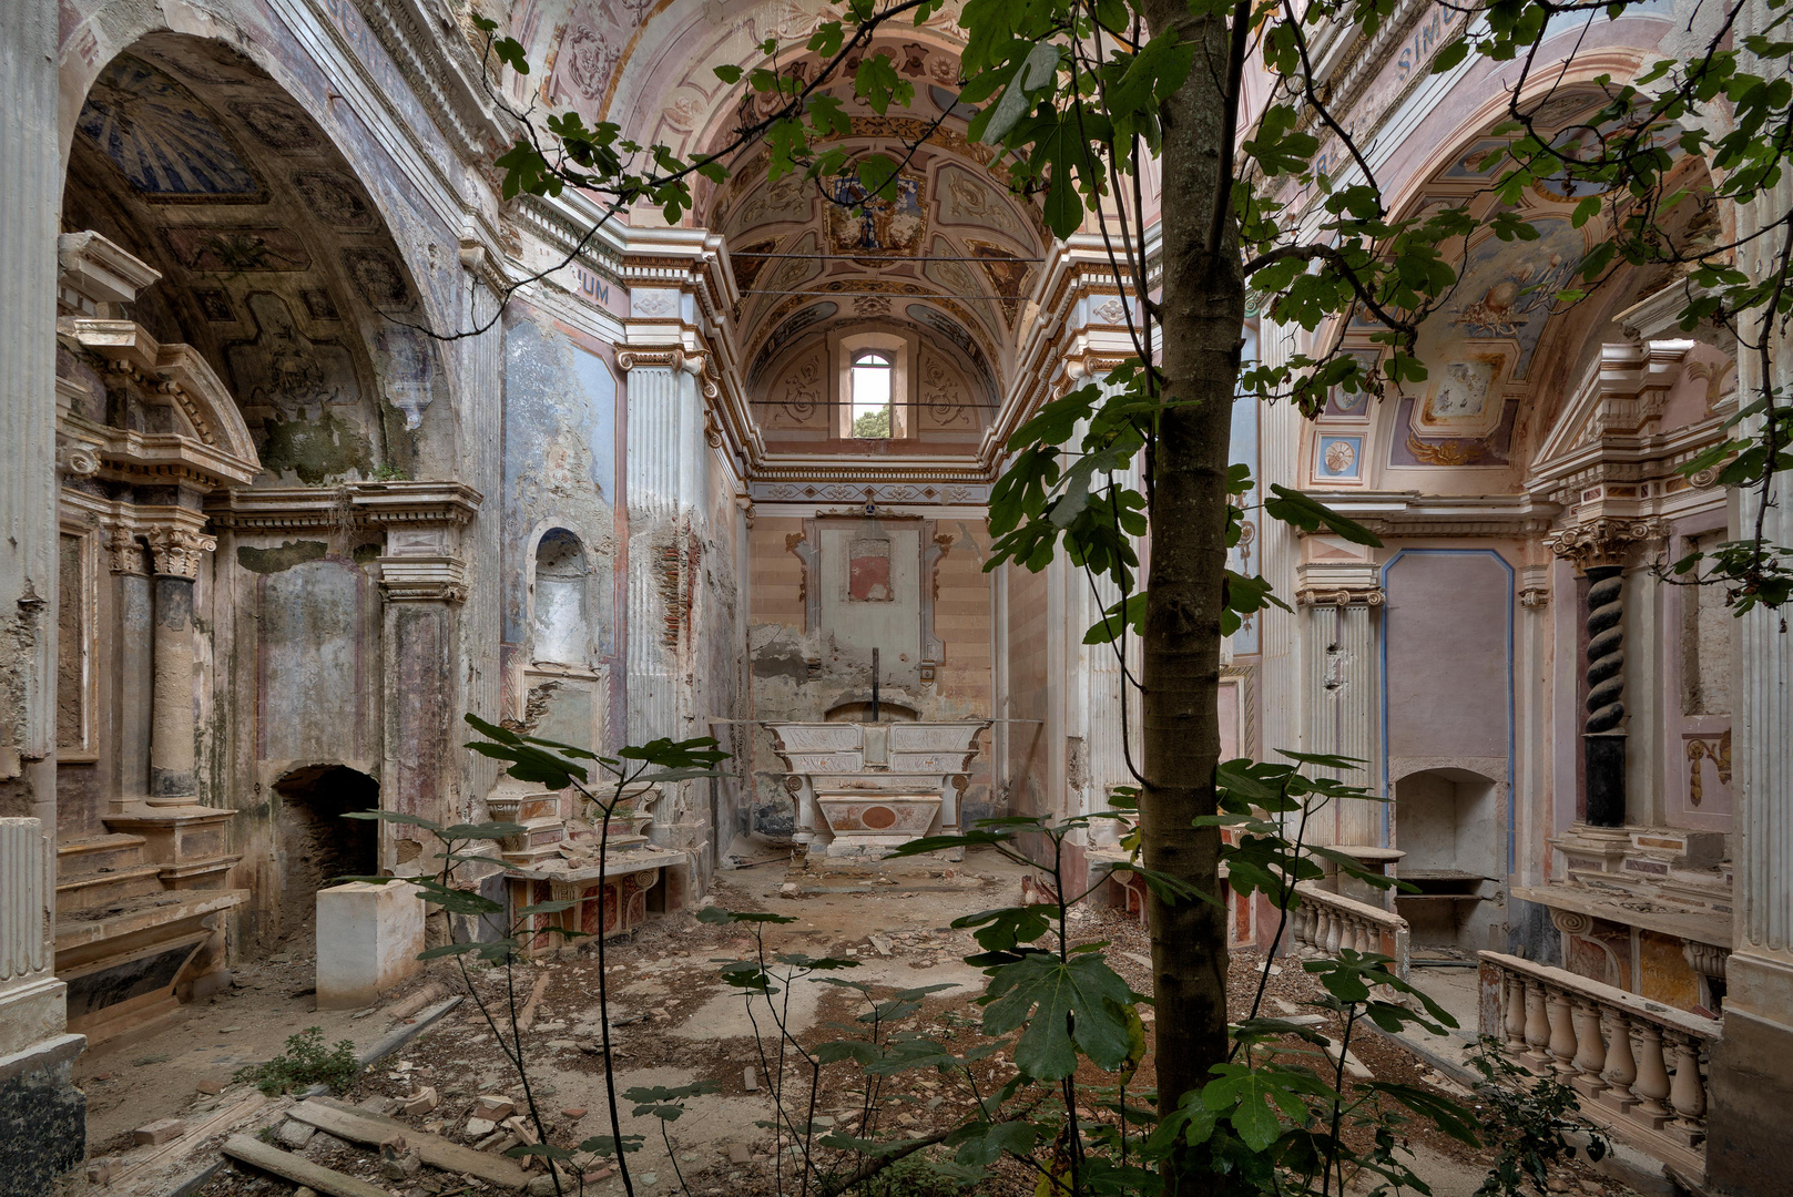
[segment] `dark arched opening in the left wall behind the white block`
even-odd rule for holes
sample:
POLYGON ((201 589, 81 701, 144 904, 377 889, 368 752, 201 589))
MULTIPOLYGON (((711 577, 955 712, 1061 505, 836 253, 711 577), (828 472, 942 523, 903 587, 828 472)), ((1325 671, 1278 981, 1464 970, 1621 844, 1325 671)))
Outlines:
POLYGON ((280 842, 280 914, 274 941, 310 950, 317 891, 341 876, 369 876, 380 862, 380 824, 344 819, 378 810, 380 783, 346 765, 294 769, 274 783, 280 842))

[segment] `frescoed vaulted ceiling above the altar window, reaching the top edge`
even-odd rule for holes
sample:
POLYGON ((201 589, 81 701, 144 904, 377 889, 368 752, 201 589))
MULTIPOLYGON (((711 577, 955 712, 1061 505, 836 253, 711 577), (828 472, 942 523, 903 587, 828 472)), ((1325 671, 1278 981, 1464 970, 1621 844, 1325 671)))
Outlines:
MULTIPOLYGON (((515 0, 509 32, 540 66, 507 84, 520 102, 615 120, 680 154, 714 152, 767 102, 742 102, 715 66, 762 66, 762 39, 776 34, 791 45, 836 16, 814 0, 515 0)), ((861 195, 850 172, 771 179, 764 152, 730 161, 726 183, 699 186, 690 220, 726 237, 749 391, 775 362, 798 369, 787 360, 793 348, 830 333, 900 330, 929 346, 936 375, 963 380, 965 419, 983 426, 993 414, 1033 319, 1049 237, 1036 204, 992 179, 992 151, 965 136, 974 111, 957 104, 956 38, 948 9, 922 27, 904 22, 870 47, 913 82, 907 111, 879 115, 853 95, 857 57, 830 88, 852 118, 839 142, 850 158, 877 152, 902 163, 893 199, 861 195)), ((805 79, 819 68, 814 57, 782 65, 805 79)), ((948 407, 938 407, 945 418, 948 407)))

